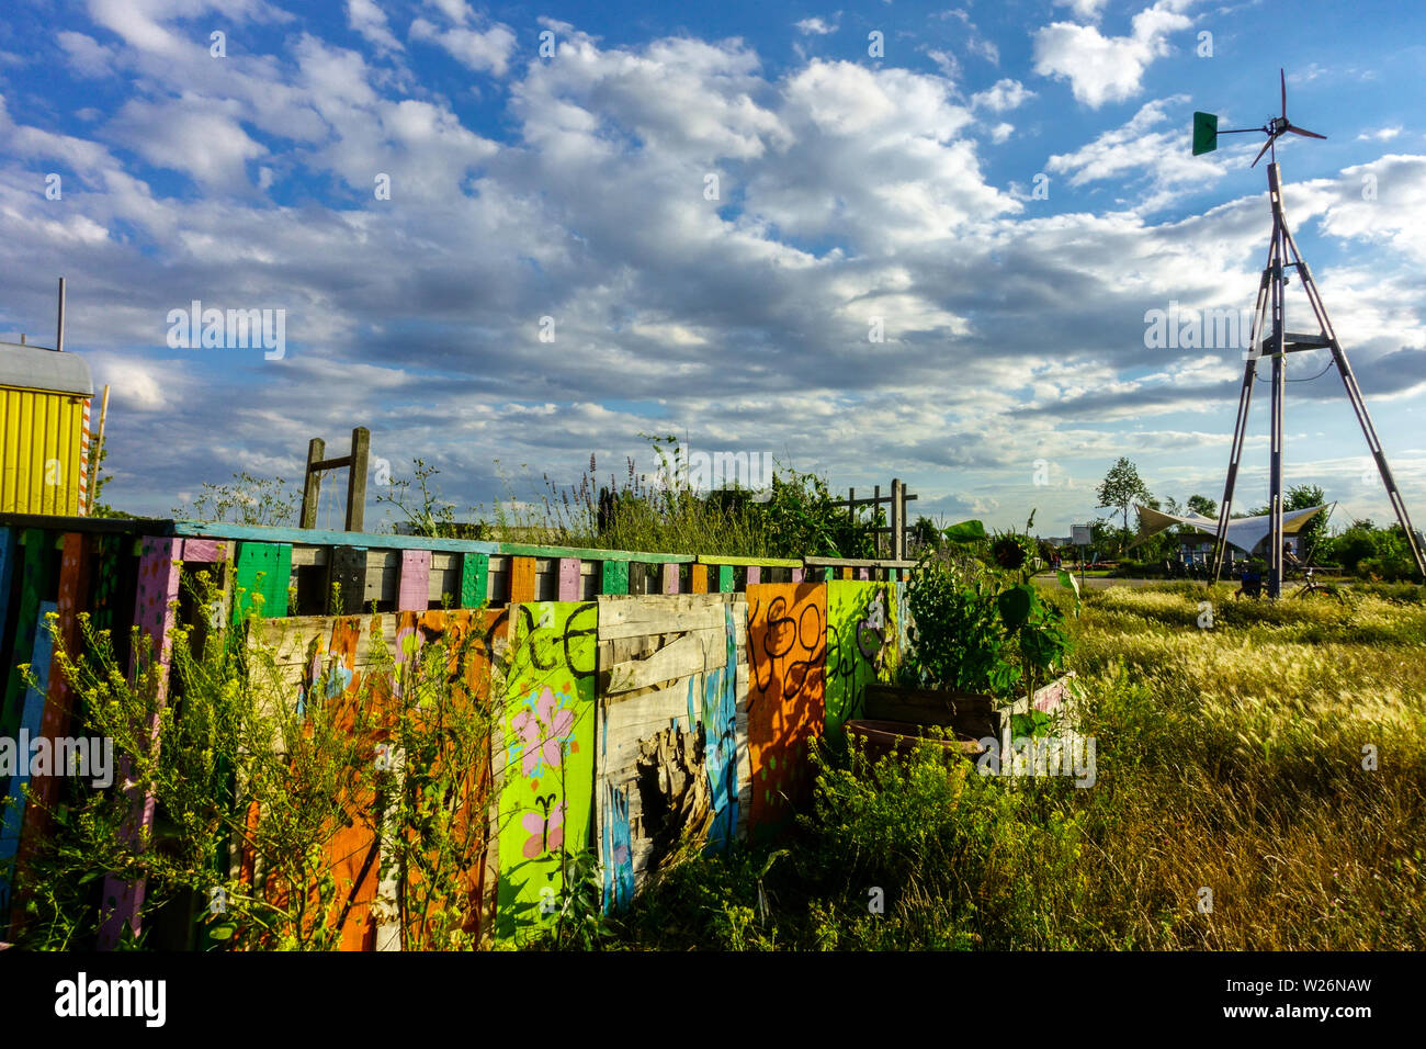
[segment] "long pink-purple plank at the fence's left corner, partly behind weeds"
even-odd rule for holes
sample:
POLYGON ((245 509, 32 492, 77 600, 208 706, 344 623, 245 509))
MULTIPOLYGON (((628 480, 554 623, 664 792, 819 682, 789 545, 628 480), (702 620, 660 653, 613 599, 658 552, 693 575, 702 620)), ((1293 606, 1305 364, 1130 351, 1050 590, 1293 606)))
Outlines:
MULTIPOLYGON (((158 704, 168 696, 168 661, 173 657, 174 602, 178 601, 178 564, 183 539, 163 539, 147 535, 140 545, 138 589, 134 597, 134 625, 150 638, 151 661, 158 667, 158 704)), ((134 652, 134 672, 138 672, 134 652)), ((158 742, 158 716, 150 724, 150 739, 158 742)), ((134 808, 130 825, 124 828, 128 841, 135 841, 144 828, 153 828, 157 799, 130 779, 131 766, 127 761, 120 768, 124 792, 134 808)), ((111 951, 118 945, 120 929, 128 925, 138 932, 138 909, 144 903, 144 882, 123 882, 113 875, 104 879, 104 896, 100 912, 104 923, 98 933, 98 946, 111 951)))

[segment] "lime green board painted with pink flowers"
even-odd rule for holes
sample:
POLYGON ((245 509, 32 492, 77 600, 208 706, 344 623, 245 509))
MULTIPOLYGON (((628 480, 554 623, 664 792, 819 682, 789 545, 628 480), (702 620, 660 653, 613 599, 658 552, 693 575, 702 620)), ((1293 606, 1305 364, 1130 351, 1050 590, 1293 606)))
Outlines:
MULTIPOLYGON (((519 561, 519 558, 515 558, 519 561)), ((553 921, 563 871, 589 843, 595 792, 595 602, 511 609, 505 709, 498 718, 496 935, 553 921)))

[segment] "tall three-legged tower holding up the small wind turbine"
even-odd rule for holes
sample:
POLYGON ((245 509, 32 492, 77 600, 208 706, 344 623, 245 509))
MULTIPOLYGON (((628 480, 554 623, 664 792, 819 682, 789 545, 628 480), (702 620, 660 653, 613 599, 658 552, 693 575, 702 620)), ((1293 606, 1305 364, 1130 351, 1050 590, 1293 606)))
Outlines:
MULTIPOLYGON (((1286 104, 1283 104, 1283 124, 1286 124, 1286 104)), ((1285 130, 1296 131, 1298 128, 1288 126, 1285 130)), ((1275 137, 1275 134, 1269 137, 1266 146, 1263 146, 1263 151, 1273 144, 1275 137)), ((1262 157, 1262 153, 1258 156, 1262 157)), ((1258 161, 1253 163, 1256 164, 1258 161)), ((1269 357, 1272 360, 1272 478, 1269 502, 1272 521, 1268 542, 1272 559, 1271 575, 1268 578, 1268 592, 1272 597, 1282 594, 1282 395, 1286 385, 1288 354, 1299 353, 1302 350, 1329 350, 1332 353, 1332 361, 1336 364, 1338 371, 1342 375, 1342 384, 1346 387, 1346 395, 1352 401, 1352 410, 1356 412, 1358 422, 1362 424, 1362 432, 1366 435, 1366 444, 1372 450, 1372 457, 1376 460, 1376 468, 1382 474, 1382 484, 1386 485, 1386 495, 1392 501, 1392 510, 1396 511, 1396 520, 1406 532, 1406 544, 1416 561, 1416 571, 1426 575, 1426 557, 1423 557, 1422 545, 1416 538, 1416 532, 1412 529, 1412 521, 1406 514, 1406 504, 1402 501, 1402 494, 1396 488, 1396 480, 1392 477, 1392 468, 1386 464, 1382 442, 1376 437, 1376 427, 1372 425, 1372 417, 1368 414, 1366 402, 1362 400, 1362 390, 1356 382, 1356 375, 1352 374, 1352 365, 1346 360, 1346 353, 1342 350, 1342 344, 1338 341, 1336 333, 1332 330, 1332 321, 1328 317, 1326 305, 1322 303, 1322 295, 1318 291, 1316 281, 1312 280, 1312 270, 1308 268, 1308 264, 1302 260, 1302 254, 1298 251, 1298 244, 1292 238, 1292 231, 1288 228, 1288 220, 1283 217, 1282 180, 1278 173, 1276 150, 1273 150, 1272 163, 1268 164, 1268 198, 1272 203, 1272 245, 1268 250, 1268 265, 1262 271, 1262 281, 1258 284, 1258 305, 1253 311, 1252 340, 1248 350, 1248 367, 1243 370, 1243 387, 1238 397, 1238 424, 1233 430, 1232 457, 1228 461, 1228 480, 1224 485, 1224 502, 1218 512, 1218 535, 1214 547, 1212 578, 1216 581, 1219 572, 1222 571, 1224 554, 1228 545, 1228 520, 1232 511, 1233 485, 1238 480, 1238 465, 1242 461, 1243 440, 1248 435, 1248 408, 1252 401, 1253 382, 1258 377, 1258 361, 1262 357, 1269 357), (1295 268, 1298 271, 1298 280, 1302 281, 1302 288, 1308 293, 1308 301, 1310 303, 1312 313, 1318 321, 1316 334, 1293 333, 1286 330, 1286 288, 1289 268, 1295 268)))

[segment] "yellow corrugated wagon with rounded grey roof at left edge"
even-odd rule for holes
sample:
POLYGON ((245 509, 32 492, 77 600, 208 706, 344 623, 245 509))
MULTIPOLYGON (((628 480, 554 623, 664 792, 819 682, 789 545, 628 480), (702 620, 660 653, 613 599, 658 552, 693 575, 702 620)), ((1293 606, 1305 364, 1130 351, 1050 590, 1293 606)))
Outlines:
POLYGON ((91 397, 74 354, 0 344, 0 512, 86 512, 91 397))

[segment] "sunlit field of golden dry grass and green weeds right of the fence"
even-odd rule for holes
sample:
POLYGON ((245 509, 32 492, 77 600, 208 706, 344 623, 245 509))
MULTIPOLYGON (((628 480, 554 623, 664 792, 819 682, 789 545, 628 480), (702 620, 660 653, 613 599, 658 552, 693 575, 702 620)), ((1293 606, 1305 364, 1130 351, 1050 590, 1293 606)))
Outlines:
POLYGON ((1426 948, 1420 588, 1229 594, 1087 595, 1094 786, 833 756, 796 838, 674 868, 607 946, 1426 948))

